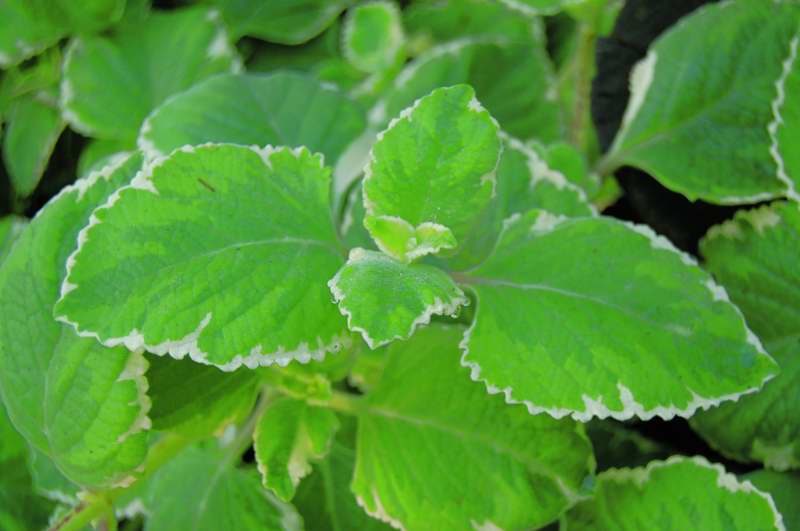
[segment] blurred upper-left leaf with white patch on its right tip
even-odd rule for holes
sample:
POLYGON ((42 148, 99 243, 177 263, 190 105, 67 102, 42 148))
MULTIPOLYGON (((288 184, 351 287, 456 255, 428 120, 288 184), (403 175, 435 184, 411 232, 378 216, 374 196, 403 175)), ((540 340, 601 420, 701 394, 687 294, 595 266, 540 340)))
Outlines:
POLYGON ((64 119, 86 136, 135 140, 147 115, 169 96, 239 67, 215 11, 154 11, 110 36, 73 40, 60 105, 64 119))

